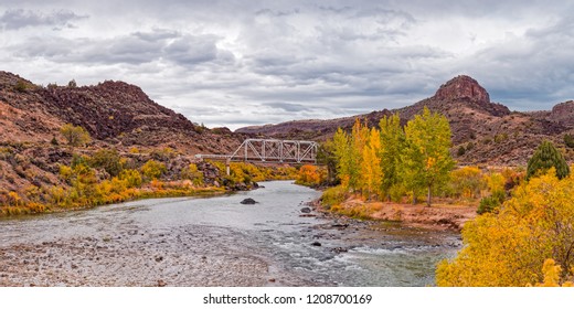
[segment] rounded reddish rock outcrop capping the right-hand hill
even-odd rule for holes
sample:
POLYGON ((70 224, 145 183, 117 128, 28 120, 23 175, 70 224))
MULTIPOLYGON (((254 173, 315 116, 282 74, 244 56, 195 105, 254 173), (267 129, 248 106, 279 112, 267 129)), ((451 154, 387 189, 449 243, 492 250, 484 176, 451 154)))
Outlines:
POLYGON ((478 103, 490 103, 487 90, 477 81, 466 75, 459 75, 442 85, 435 98, 439 100, 468 98, 478 103))

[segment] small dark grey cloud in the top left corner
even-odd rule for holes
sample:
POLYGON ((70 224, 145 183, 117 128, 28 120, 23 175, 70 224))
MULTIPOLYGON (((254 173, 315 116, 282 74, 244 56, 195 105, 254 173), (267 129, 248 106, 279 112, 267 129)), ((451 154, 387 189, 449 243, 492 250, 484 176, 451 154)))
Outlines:
POLYGON ((73 21, 86 18, 87 15, 78 15, 68 10, 52 11, 45 14, 31 10, 12 9, 6 10, 0 17, 0 24, 7 30, 18 30, 26 26, 73 28, 73 21))

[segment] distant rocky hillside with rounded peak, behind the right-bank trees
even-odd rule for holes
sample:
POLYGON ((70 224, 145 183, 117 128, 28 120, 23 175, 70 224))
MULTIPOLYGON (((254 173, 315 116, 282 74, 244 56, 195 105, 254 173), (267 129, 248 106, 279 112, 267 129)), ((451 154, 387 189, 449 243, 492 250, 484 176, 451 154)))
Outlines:
POLYGON ((523 166, 543 139, 553 140, 564 148, 568 159, 574 159, 574 151, 566 149, 563 142, 563 136, 574 131, 574 102, 559 104, 552 111, 511 111, 502 104, 490 102, 488 92, 469 76, 457 76, 442 85, 434 96, 394 110, 247 127, 237 132, 325 140, 338 127, 349 129, 358 117, 375 125, 384 115, 398 113, 405 124, 425 106, 448 118, 453 129, 451 152, 461 164, 523 166))

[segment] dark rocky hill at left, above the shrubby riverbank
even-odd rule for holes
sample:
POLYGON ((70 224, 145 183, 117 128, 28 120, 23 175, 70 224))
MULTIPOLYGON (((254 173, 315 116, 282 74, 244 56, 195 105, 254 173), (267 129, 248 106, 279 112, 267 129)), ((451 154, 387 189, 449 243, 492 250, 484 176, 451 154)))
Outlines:
POLYGON ((127 150, 170 147, 182 153, 225 153, 242 137, 209 130, 151 100, 139 87, 107 81, 95 86, 40 87, 0 72, 0 140, 61 140, 64 124, 84 127, 96 143, 127 150))

